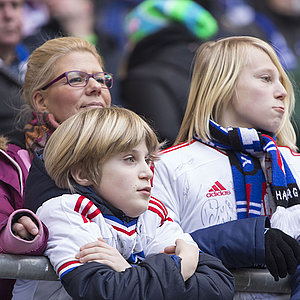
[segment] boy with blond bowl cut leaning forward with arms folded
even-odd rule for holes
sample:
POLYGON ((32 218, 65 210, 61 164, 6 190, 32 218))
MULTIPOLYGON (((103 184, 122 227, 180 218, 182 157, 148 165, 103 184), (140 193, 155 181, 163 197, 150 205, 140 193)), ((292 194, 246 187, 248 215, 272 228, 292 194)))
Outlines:
MULTIPOLYGON (((45 168, 68 192, 45 201, 37 215, 50 233, 45 255, 73 299, 232 298, 230 273, 199 254, 150 199, 158 147, 149 125, 124 108, 80 112, 50 137, 45 168)), ((14 299, 62 296, 49 282, 26 286, 17 283, 14 299)))

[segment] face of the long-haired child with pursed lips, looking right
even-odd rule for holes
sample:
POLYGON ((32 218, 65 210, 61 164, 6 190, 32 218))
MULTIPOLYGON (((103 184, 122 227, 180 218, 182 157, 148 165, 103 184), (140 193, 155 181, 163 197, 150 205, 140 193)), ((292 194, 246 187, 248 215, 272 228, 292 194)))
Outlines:
POLYGON ((248 63, 220 124, 276 132, 285 111, 287 92, 279 71, 264 51, 250 47, 248 54, 248 63))

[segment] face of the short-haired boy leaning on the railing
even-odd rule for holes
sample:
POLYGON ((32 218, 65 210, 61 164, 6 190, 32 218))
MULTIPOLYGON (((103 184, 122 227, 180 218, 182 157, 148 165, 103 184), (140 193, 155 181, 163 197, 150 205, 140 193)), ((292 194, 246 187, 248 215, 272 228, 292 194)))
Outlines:
POLYGON ((137 217, 148 208, 152 177, 148 149, 143 141, 130 151, 109 158, 102 165, 101 182, 93 189, 127 216, 137 217))

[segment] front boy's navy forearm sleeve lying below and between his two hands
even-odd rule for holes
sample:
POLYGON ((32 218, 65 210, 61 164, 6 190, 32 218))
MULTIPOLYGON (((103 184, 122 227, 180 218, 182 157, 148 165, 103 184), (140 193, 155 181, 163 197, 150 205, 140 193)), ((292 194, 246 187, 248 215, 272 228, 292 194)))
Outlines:
POLYGON ((179 299, 185 284, 178 263, 180 258, 176 263, 163 253, 123 272, 89 262, 63 275, 61 282, 74 299, 179 299))

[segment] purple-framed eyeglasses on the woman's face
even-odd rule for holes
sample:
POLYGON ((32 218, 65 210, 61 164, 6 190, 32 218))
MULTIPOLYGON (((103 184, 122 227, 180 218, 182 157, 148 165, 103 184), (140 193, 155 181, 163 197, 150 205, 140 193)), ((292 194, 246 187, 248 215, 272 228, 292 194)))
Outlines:
POLYGON ((50 83, 42 87, 42 90, 47 89, 53 83, 64 77, 67 79, 69 86, 72 87, 85 87, 88 84, 90 78, 94 78, 98 83, 100 83, 101 88, 111 89, 113 86, 113 75, 110 73, 99 72, 95 74, 88 74, 82 71, 69 71, 62 73, 61 75, 56 77, 50 83))

